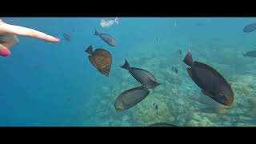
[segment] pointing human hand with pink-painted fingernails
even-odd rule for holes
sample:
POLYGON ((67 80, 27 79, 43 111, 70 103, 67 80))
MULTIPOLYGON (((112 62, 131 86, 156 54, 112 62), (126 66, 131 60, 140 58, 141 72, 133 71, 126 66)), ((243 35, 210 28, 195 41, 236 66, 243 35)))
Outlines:
POLYGON ((59 38, 54 38, 48 34, 22 26, 14 26, 2 22, 0 19, 0 56, 10 56, 10 47, 18 43, 16 35, 32 37, 45 40, 47 42, 59 42, 59 38))

